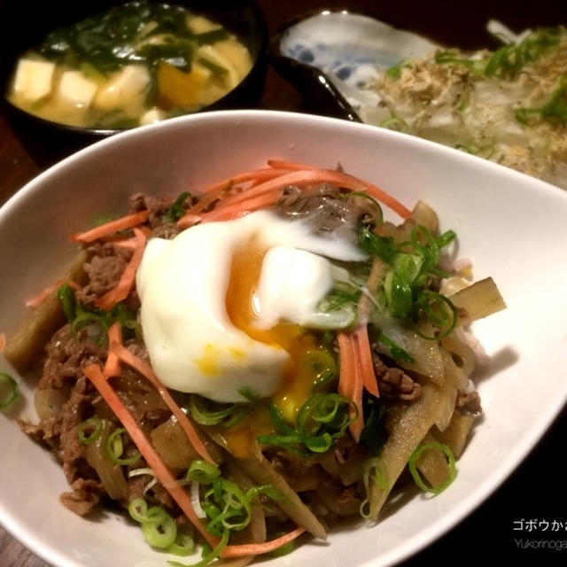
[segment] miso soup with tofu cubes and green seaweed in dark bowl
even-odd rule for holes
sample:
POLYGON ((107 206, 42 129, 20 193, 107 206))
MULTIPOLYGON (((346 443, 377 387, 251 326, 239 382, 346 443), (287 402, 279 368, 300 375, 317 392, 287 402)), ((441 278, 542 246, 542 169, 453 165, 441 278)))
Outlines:
POLYGON ((132 2, 52 31, 19 58, 7 97, 46 120, 132 128, 213 104, 251 68, 245 45, 211 19, 132 2))

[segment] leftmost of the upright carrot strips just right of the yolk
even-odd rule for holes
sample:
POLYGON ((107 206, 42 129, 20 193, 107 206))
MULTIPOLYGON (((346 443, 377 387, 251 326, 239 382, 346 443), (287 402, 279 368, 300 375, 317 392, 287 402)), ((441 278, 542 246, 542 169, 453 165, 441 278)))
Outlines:
MULTIPOLYGON (((364 417, 362 416, 362 377, 359 364, 356 360, 353 337, 345 331, 337 333, 338 354, 339 354, 339 374, 338 374, 338 393, 349 400, 353 400, 358 409, 358 416, 348 427, 354 440, 358 443, 361 431, 364 427, 364 417)), ((351 411, 351 416, 353 415, 351 411)))

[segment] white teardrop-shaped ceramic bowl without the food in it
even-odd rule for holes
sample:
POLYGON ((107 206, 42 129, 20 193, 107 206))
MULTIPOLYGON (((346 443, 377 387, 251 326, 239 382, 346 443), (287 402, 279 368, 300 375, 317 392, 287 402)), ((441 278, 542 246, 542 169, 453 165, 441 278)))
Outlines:
MULTIPOLYGON (((333 532, 271 560, 360 567, 400 561, 446 532, 517 467, 567 396, 567 194, 459 151, 379 128, 291 113, 207 113, 114 136, 52 167, 0 211, 2 329, 10 333, 24 300, 60 276, 74 254, 66 237, 101 214, 119 214, 133 192, 177 195, 268 158, 347 172, 411 207, 417 199, 455 229, 477 279, 493 276, 509 308, 478 322, 493 356, 479 384, 485 418, 459 462, 453 485, 416 497, 374 527, 333 532)), ((2 362, 2 369, 6 364, 2 362)), ((19 377, 30 400, 31 382, 19 377)), ((33 418, 32 404, 24 409, 33 418)), ((66 482, 43 448, 0 416, 0 521, 35 554, 59 567, 165 565, 136 526, 102 513, 89 521, 58 503, 66 482)))

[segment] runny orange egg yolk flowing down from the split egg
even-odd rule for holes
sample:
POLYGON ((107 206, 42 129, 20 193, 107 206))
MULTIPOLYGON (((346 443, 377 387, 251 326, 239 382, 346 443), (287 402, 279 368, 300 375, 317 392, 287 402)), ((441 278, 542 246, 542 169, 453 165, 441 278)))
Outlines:
MULTIPOLYGON (((230 267, 226 309, 230 321, 249 337, 270 346, 279 346, 289 353, 283 367, 279 389, 272 402, 291 423, 299 408, 312 392, 316 373, 306 364, 307 354, 319 348, 315 334, 298 324, 278 322, 270 329, 259 329, 256 294, 258 292, 262 261, 268 252, 257 237, 252 237, 234 252, 230 267)), ((293 274, 289 275, 293 277, 293 274)))

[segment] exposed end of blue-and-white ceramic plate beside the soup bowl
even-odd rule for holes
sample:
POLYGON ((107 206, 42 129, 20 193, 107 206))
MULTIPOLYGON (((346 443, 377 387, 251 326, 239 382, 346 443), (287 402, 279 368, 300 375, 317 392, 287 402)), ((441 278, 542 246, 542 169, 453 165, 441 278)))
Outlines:
POLYGON ((373 123, 379 97, 363 85, 380 70, 424 56, 436 47, 420 35, 369 16, 324 11, 285 25, 272 38, 270 51, 276 69, 292 83, 315 97, 321 93, 314 90, 321 89, 338 94, 336 102, 344 114, 355 113, 346 118, 373 123))

